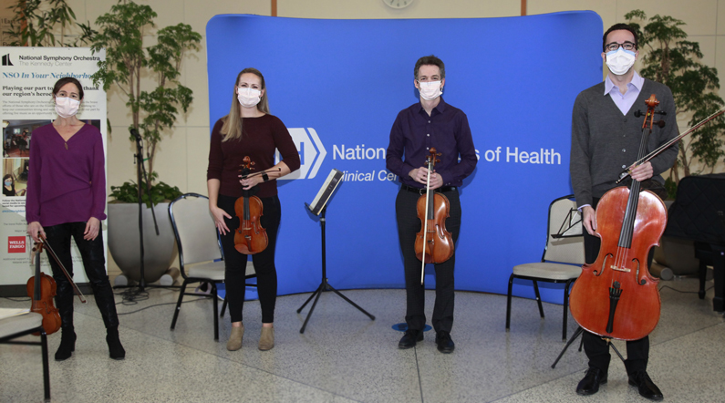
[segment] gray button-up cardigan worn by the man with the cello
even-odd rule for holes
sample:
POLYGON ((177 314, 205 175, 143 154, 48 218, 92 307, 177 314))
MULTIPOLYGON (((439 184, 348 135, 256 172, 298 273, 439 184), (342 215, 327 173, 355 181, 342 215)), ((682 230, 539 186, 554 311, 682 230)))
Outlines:
MULTIPOLYGON (((679 134, 675 100, 667 86, 645 78, 627 115, 622 115, 609 94, 604 95, 604 90, 604 82, 587 88, 579 93, 574 103, 569 169, 577 206, 592 204, 592 198, 601 198, 606 191, 616 187, 619 173, 637 160, 645 118, 635 118, 634 113, 647 111, 645 100, 650 95, 655 94, 659 101, 655 110, 667 112, 667 115, 655 115, 656 120, 665 120, 665 127, 652 129, 647 153, 679 134)), ((678 145, 674 145, 650 160, 654 180, 664 184, 660 173, 672 167, 677 155, 678 145)))

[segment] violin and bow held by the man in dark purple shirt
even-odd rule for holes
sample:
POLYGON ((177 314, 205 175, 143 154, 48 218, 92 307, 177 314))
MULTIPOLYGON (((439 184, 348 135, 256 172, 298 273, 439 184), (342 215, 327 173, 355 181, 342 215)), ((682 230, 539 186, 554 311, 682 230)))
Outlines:
POLYGON ((420 284, 423 284, 426 263, 443 263, 453 255, 453 236, 446 230, 446 219, 450 217, 451 202, 440 192, 430 191, 430 172, 433 171, 440 153, 434 147, 426 159, 428 178, 426 194, 420 196, 416 208, 420 219, 420 232, 415 238, 415 255, 422 262, 420 284))

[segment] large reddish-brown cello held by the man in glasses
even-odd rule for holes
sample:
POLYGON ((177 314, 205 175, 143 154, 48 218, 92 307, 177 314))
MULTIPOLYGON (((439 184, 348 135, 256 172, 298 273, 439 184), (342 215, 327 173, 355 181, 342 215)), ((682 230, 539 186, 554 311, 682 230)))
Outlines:
MULTIPOLYGON (((647 150, 659 104, 654 94, 646 102, 637 160, 647 150)), ((607 340, 639 340, 659 322, 659 280, 649 274, 647 254, 665 232, 667 209, 655 193, 640 190, 640 182, 632 181, 628 189, 620 186, 602 196, 595 233, 602 246, 596 262, 582 266, 569 296, 575 321, 607 340)))

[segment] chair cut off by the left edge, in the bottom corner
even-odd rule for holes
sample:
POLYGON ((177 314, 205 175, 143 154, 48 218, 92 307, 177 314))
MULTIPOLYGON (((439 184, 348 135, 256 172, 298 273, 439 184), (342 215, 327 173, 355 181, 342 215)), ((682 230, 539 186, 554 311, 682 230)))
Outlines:
MULTIPOLYGON (((3 311, 0 308, 0 311, 3 311)), ((2 312, 0 312, 2 314, 2 312)), ((43 315, 35 312, 0 319, 0 344, 41 346, 43 351, 43 388, 45 401, 50 401, 50 371, 47 363, 47 336, 43 329, 43 315), (17 337, 40 333, 40 341, 16 341, 17 337)))

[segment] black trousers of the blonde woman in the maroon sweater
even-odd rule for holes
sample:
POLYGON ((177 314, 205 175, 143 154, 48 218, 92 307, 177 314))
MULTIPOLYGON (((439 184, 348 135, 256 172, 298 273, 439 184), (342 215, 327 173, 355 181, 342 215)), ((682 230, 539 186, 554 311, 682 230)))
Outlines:
MULTIPOLYGON (((247 255, 234 249, 234 230, 239 228, 239 218, 234 212, 234 202, 237 198, 219 195, 217 202, 220 209, 232 216, 224 219, 227 227, 232 230, 222 235, 222 249, 224 252, 224 283, 226 286, 226 300, 229 304, 229 315, 232 322, 242 321, 244 305, 244 277, 246 275, 247 255)), ((277 300, 277 269, 274 266, 274 249, 277 243, 277 231, 282 218, 282 208, 277 196, 260 198, 262 201, 262 218, 260 223, 267 233, 267 247, 260 253, 252 255, 254 272, 257 274, 257 293, 259 305, 262 307, 262 323, 274 322, 274 304, 277 300)))

